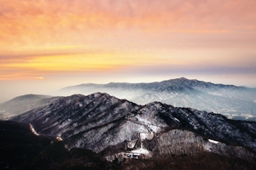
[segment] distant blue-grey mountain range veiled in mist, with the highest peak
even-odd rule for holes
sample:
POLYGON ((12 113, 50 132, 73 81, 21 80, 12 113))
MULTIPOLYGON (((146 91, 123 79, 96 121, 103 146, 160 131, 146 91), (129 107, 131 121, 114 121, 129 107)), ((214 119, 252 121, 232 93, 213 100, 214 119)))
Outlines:
POLYGON ((139 105, 160 101, 177 107, 213 111, 229 118, 254 120, 256 89, 177 78, 151 83, 81 84, 62 88, 56 94, 108 93, 139 105))

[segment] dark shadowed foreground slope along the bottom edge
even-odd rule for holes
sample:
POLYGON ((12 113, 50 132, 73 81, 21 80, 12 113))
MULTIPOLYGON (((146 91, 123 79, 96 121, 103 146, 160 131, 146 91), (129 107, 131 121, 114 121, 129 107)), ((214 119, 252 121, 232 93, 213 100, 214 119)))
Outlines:
MULTIPOLYGON (((239 151, 243 156, 237 157, 202 151, 197 154, 181 156, 164 156, 152 159, 114 159, 104 161, 109 150, 96 154, 91 150, 74 148, 67 150, 63 141, 35 136, 29 126, 17 122, 0 121, 0 157, 1 169, 247 169, 253 170, 255 161, 239 151), (4 129, 4 130, 3 130, 4 129), (15 146, 15 147, 14 147, 15 146)), ((182 133, 182 132, 176 132, 182 133)), ((171 133, 172 135, 172 133, 171 133)), ((180 138, 178 135, 176 139, 180 138)), ((180 144, 181 146, 184 144, 180 144)), ((166 150, 166 147, 162 150, 166 150)), ((210 148, 209 148, 210 149, 210 148)), ((237 148, 242 150, 242 148, 237 148)), ((182 150, 182 147, 177 148, 182 150)), ((194 148, 195 150, 195 148, 194 148)), ((229 150, 232 151, 232 150, 229 150)))

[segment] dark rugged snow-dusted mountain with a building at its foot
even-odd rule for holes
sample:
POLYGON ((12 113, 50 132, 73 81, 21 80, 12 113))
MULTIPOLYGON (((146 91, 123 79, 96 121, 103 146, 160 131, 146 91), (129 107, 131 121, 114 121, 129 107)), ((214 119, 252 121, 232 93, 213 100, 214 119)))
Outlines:
POLYGON ((251 156, 256 151, 256 122, 160 102, 137 105, 109 94, 75 94, 12 120, 32 124, 39 135, 63 139, 68 149, 103 151, 108 160, 196 150, 226 155, 240 150, 251 156))

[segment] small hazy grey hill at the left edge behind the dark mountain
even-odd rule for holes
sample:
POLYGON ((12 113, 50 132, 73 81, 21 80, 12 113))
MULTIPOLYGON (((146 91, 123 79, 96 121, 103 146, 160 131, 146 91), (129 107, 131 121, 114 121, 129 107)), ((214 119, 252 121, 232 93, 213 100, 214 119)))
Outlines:
POLYGON ((17 116, 20 113, 36 109, 40 106, 49 105, 61 98, 36 94, 26 94, 16 97, 0 105, 0 119, 8 120, 12 116, 17 116))

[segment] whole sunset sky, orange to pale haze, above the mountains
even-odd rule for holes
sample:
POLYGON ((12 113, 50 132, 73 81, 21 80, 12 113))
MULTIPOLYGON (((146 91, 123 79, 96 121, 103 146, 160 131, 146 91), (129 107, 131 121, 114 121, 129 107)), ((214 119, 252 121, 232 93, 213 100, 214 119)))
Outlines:
POLYGON ((0 102, 187 77, 256 88, 255 0, 0 0, 0 102))

